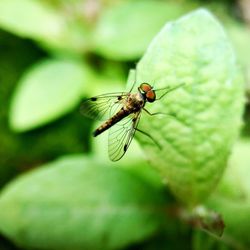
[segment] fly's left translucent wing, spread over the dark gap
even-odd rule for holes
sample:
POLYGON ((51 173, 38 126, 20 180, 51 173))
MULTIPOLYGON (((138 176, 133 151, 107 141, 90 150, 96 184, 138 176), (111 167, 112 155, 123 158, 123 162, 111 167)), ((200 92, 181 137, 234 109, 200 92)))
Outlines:
POLYGON ((111 93, 83 100, 80 113, 94 120, 107 120, 124 105, 129 93, 111 93))

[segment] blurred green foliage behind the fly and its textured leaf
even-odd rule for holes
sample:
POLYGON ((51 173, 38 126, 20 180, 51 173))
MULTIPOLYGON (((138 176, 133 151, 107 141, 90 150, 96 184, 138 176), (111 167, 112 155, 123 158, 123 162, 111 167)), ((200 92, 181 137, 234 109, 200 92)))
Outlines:
MULTIPOLYGON (((1 0, 0 248, 250 248, 249 13, 244 0, 1 0), (222 238, 183 222, 182 206, 136 143, 111 163, 107 138, 92 140, 96 124, 78 111, 84 97, 124 90, 165 23, 198 7, 223 24, 246 82, 241 137, 203 204, 223 216, 222 238)), ((209 37, 203 29, 198 41, 209 37)))

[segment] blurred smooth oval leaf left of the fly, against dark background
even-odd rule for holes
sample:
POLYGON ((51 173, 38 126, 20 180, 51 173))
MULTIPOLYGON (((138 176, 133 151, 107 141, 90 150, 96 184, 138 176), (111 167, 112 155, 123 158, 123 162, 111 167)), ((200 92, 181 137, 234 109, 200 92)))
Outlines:
POLYGON ((45 60, 29 69, 11 100, 10 126, 22 132, 71 111, 88 82, 86 65, 70 60, 45 60))

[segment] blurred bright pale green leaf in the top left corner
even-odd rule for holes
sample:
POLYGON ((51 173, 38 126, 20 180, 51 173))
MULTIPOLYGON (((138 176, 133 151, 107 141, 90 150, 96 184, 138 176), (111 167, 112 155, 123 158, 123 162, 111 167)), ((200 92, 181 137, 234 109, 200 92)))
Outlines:
MULTIPOLYGON (((84 14, 84 13, 83 13, 84 14)), ((42 0, 1 0, 0 27, 41 43, 52 52, 80 53, 87 49, 89 30, 84 18, 63 6, 42 0)))

